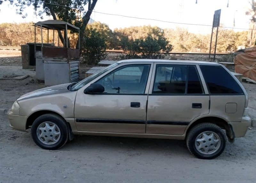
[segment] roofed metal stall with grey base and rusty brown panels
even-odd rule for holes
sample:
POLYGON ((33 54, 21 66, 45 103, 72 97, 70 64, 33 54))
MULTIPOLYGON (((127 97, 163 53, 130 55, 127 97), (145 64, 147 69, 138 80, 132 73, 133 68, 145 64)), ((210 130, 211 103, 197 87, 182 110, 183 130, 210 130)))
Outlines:
MULTIPOLYGON (((35 23, 35 56, 36 56, 36 78, 44 80, 46 86, 63 83, 76 82, 79 79, 79 49, 68 47, 68 30, 78 32, 80 41, 80 30, 74 25, 61 20, 46 20, 35 23), (36 27, 41 29, 41 50, 36 48, 36 27), (47 46, 43 43, 43 29, 47 30, 47 46), (49 30, 53 30, 53 43, 49 45, 49 30), (58 33, 58 46, 54 43, 54 33, 58 33), (59 32, 64 32, 64 47, 59 44, 59 32)), ((61 33, 62 34, 62 33, 61 33)), ((80 48, 80 42, 79 42, 80 48)))

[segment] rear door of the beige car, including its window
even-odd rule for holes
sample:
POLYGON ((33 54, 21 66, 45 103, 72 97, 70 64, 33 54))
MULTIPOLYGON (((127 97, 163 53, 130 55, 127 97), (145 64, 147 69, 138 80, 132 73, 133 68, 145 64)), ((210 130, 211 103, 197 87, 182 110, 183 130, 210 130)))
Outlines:
POLYGON ((146 133, 182 135, 190 121, 209 113, 210 97, 204 92, 198 67, 189 64, 154 65, 146 133))

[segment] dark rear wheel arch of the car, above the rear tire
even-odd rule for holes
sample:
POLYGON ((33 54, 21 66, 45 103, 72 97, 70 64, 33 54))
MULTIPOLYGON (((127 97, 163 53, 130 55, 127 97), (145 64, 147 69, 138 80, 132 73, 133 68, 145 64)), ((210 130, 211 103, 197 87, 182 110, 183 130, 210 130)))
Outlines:
POLYGON ((232 126, 228 124, 228 121, 221 117, 217 116, 205 116, 198 119, 195 119, 194 121, 190 122, 188 127, 185 130, 186 137, 188 132, 193 128, 194 126, 201 124, 201 123, 213 123, 217 126, 219 126, 221 129, 224 129, 226 131, 226 135, 228 137, 229 142, 234 142, 235 135, 233 133, 232 126))

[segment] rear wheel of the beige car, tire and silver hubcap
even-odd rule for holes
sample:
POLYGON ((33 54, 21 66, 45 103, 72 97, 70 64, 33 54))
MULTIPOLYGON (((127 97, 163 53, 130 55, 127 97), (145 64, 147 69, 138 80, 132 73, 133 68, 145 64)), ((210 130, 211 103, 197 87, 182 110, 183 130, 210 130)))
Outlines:
POLYGON ((213 159, 220 156, 226 147, 226 135, 213 123, 194 126, 187 135, 188 150, 200 159, 213 159))

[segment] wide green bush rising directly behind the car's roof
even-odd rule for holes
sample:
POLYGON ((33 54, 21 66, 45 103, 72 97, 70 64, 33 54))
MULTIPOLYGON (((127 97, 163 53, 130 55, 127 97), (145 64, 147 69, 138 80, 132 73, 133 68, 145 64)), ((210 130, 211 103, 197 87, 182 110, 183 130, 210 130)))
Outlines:
POLYGON ((164 56, 160 51, 169 52, 172 45, 164 36, 152 37, 148 35, 145 39, 129 40, 128 37, 121 39, 121 47, 126 53, 124 58, 162 58, 164 56))

